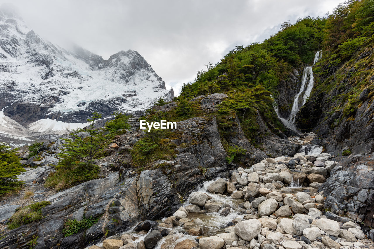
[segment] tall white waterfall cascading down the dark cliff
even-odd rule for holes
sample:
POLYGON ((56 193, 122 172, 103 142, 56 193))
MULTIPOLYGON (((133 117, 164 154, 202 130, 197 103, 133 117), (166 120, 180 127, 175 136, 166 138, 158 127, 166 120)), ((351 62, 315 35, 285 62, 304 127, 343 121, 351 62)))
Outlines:
MULTIPOLYGON (((322 58, 322 50, 318 51, 313 60, 313 65, 315 65, 320 59, 322 58)), ((292 105, 291 112, 287 119, 281 118, 278 112, 278 107, 274 108, 275 112, 277 113, 279 119, 283 122, 283 124, 294 130, 298 131, 295 123, 296 114, 300 111, 300 108, 306 103, 306 100, 309 98, 310 93, 312 92, 314 85, 314 78, 313 78, 313 70, 312 66, 307 66, 304 68, 303 77, 301 77, 301 87, 299 92, 295 95, 294 103, 292 105)))

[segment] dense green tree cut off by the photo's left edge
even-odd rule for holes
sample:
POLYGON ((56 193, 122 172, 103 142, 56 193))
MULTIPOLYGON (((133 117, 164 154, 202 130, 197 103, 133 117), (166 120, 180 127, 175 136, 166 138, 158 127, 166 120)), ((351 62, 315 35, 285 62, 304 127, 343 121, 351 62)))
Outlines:
POLYGON ((14 191, 22 182, 17 181, 16 175, 25 169, 19 163, 16 149, 11 149, 6 143, 0 143, 0 196, 14 191))

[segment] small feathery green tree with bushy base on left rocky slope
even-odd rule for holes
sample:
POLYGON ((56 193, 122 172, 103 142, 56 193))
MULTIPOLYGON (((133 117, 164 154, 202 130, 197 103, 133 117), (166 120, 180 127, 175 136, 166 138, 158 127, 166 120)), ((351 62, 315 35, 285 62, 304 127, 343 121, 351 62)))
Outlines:
POLYGON ((55 166, 56 172, 49 174, 46 187, 61 190, 99 177, 100 168, 94 159, 108 143, 104 131, 94 129, 95 121, 99 118, 101 115, 94 112, 93 117, 87 119, 90 124, 88 129, 78 129, 70 134, 72 139, 64 139, 60 161, 55 166))

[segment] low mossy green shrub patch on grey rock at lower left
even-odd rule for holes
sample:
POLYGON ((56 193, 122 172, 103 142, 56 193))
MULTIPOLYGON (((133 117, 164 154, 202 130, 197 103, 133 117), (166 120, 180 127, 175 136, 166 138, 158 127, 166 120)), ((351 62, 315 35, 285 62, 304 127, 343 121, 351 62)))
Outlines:
POLYGON ((21 225, 29 224, 33 221, 42 220, 42 208, 49 204, 50 202, 42 201, 17 209, 17 211, 9 219, 8 228, 12 230, 21 225))

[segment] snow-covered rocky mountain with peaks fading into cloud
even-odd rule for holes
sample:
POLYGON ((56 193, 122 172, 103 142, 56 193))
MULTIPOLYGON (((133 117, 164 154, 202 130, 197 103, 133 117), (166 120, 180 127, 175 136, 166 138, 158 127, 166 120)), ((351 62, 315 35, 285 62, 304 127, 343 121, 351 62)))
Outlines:
POLYGON ((81 47, 66 50, 0 8, 0 141, 82 127, 94 111, 139 113, 159 97, 169 101, 174 91, 138 52, 104 60, 81 47))

